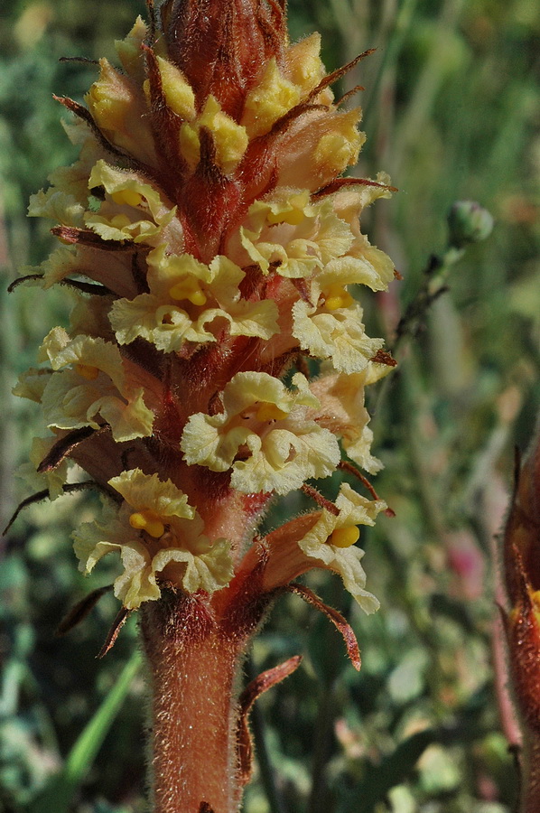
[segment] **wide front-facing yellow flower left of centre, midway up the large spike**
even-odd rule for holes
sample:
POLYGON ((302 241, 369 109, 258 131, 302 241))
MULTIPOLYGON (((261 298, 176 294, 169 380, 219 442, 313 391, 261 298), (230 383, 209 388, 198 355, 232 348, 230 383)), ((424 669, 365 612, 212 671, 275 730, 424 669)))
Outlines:
POLYGON ((120 344, 140 336, 158 350, 181 350, 185 341, 216 341, 215 320, 226 320, 231 336, 269 339, 277 332, 275 303, 242 299, 238 285, 245 274, 228 257, 214 257, 206 266, 190 254, 166 255, 160 247, 147 263, 150 293, 119 299, 111 308, 120 344))

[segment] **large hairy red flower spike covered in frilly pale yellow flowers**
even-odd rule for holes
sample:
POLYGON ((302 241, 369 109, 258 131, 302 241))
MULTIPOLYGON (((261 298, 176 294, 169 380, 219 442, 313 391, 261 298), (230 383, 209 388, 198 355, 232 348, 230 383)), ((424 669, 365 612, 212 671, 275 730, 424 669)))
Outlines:
POLYGON ((17 281, 76 299, 15 392, 50 430, 33 484, 56 499, 79 467, 101 493, 75 553, 84 573, 119 556, 114 592, 140 613, 160 813, 237 810, 237 668, 278 593, 327 612, 357 667, 348 625, 293 579, 331 570, 365 612, 378 606, 357 544, 386 509, 359 471, 381 466, 364 388, 394 361, 360 299, 395 271, 359 220, 392 188, 383 173, 342 177, 365 136, 331 85, 367 53, 327 74, 318 34, 289 42, 284 5, 149 4, 117 66, 99 62, 86 107, 58 99, 79 159, 30 214, 60 245, 17 281), (313 483, 338 470, 358 477, 332 501, 313 483), (271 501, 297 490, 312 511, 260 536, 271 501))

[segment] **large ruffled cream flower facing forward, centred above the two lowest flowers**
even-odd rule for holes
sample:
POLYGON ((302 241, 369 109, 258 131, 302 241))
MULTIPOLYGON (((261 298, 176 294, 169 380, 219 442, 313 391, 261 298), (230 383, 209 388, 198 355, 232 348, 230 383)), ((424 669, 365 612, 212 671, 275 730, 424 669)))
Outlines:
POLYGON ((306 419, 319 402, 301 373, 293 393, 267 373, 240 372, 222 393, 219 415, 192 415, 182 435, 187 463, 231 472, 231 486, 246 493, 286 494, 310 477, 328 477, 340 462, 333 435, 306 419))

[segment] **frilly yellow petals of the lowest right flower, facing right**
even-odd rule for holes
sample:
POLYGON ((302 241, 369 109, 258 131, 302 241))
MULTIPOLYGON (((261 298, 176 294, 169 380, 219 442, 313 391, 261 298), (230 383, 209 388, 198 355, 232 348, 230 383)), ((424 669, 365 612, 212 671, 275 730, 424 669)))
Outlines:
POLYGON ((323 509, 320 519, 298 541, 303 553, 320 560, 325 567, 340 574, 343 584, 365 612, 375 612, 379 603, 366 588, 366 574, 360 565, 364 551, 354 544, 359 537, 358 525, 374 525, 377 514, 386 509, 383 500, 367 500, 347 483, 342 483, 336 500, 338 516, 323 509))

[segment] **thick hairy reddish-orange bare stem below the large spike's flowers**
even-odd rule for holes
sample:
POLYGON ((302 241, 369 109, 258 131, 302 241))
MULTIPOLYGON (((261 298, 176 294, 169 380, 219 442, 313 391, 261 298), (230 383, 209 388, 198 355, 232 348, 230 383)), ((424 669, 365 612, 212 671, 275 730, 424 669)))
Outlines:
POLYGON ((152 673, 154 813, 237 813, 237 666, 210 603, 169 594, 148 602, 143 642, 152 673))

